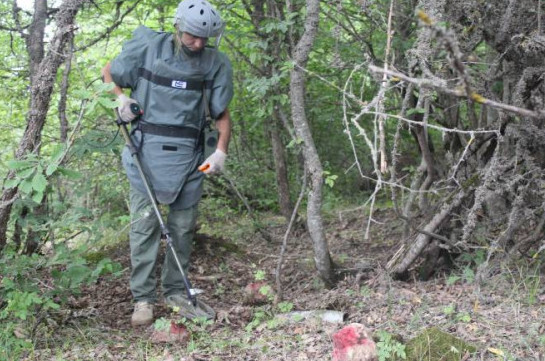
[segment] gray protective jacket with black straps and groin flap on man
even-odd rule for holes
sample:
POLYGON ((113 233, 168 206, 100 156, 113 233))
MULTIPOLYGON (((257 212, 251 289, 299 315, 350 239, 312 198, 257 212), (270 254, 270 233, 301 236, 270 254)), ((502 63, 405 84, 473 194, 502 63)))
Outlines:
MULTIPOLYGON (((197 171, 203 161, 203 89, 215 119, 233 97, 229 59, 212 48, 198 55, 176 52, 172 34, 141 26, 112 61, 111 74, 117 85, 132 90, 131 97, 144 111, 133 124, 132 139, 140 146, 140 161, 157 200, 175 203, 178 209, 194 205, 204 177, 197 171), (146 127, 155 131, 147 132, 146 127), (157 131, 163 127, 177 135, 157 131)), ((122 158, 131 186, 145 192, 127 147, 122 158)))

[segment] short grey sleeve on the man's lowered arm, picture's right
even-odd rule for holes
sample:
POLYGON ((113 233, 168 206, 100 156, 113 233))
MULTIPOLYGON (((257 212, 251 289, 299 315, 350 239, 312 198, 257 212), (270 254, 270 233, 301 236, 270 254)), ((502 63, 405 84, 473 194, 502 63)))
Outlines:
POLYGON ((210 96, 210 113, 214 119, 227 109, 233 98, 233 68, 229 58, 218 53, 220 66, 214 75, 214 85, 210 96))

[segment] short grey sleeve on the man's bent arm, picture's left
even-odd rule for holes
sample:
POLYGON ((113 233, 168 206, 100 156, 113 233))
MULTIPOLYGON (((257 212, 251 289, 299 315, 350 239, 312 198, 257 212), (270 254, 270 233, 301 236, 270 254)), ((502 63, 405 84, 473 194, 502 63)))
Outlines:
POLYGON ((145 26, 138 27, 133 37, 123 44, 121 53, 111 62, 110 72, 114 82, 122 88, 136 88, 138 69, 144 64, 149 39, 154 32, 145 26))

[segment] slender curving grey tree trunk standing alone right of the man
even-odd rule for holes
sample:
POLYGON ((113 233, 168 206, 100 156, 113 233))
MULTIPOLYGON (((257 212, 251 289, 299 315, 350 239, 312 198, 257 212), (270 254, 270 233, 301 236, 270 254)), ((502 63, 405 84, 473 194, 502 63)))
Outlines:
POLYGON ((290 74, 291 112, 295 133, 303 141, 305 167, 310 178, 307 224, 314 245, 314 261, 322 280, 327 285, 332 285, 334 283, 333 267, 321 215, 323 170, 305 114, 305 77, 302 70, 308 61, 308 55, 316 37, 320 2, 307 0, 306 5, 305 30, 295 46, 293 53, 295 65, 290 74))

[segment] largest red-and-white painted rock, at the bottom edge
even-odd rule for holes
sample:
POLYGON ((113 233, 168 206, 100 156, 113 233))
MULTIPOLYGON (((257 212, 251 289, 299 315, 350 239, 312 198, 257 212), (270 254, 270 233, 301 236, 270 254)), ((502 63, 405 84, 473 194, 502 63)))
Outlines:
POLYGON ((333 335, 333 361, 376 361, 377 350, 369 331, 351 323, 333 335))

